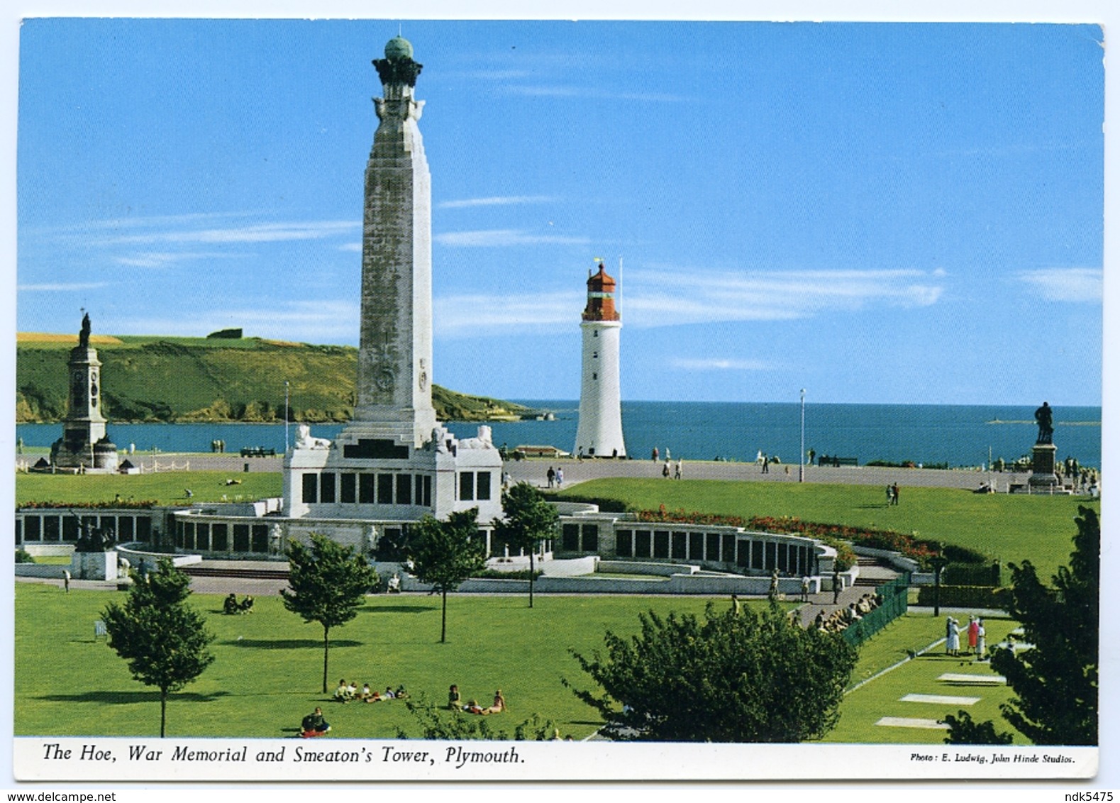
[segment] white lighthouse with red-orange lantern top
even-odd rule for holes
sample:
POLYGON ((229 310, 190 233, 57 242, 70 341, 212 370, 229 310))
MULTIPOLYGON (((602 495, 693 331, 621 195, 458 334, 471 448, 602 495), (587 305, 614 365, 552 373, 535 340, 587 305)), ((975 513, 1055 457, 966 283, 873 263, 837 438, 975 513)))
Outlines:
POLYGON ((615 309, 615 280, 603 263, 587 280, 584 332, 584 377, 579 393, 576 454, 585 457, 626 457, 623 442, 622 392, 618 382, 618 335, 622 318, 615 309))

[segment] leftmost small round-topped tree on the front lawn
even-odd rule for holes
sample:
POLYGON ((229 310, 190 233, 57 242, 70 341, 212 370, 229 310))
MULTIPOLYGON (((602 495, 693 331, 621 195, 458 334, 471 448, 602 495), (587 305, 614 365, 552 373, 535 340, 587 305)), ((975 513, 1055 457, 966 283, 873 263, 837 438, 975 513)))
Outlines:
POLYGON ((214 635, 187 604, 190 578, 167 558, 146 578, 132 572, 124 605, 110 603, 102 618, 109 646, 129 662, 132 678, 159 689, 159 736, 167 734, 167 698, 211 665, 214 635))

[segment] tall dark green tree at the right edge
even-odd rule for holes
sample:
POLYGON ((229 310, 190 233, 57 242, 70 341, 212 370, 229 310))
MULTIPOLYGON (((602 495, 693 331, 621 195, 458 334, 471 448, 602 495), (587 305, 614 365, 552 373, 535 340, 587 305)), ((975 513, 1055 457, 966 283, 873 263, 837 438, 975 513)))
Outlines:
POLYGON ((1053 587, 1030 561, 1011 564, 1006 608, 1023 625, 1029 650, 997 650, 991 667, 1015 698, 1004 718, 1036 745, 1095 745, 1100 634, 1101 523, 1081 506, 1070 566, 1053 587))

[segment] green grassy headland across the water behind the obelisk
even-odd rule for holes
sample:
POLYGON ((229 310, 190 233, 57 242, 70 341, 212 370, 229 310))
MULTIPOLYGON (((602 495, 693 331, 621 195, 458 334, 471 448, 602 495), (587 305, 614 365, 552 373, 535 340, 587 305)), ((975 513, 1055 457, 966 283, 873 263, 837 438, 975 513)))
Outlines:
MULTIPOLYGON (((16 357, 16 420, 66 414, 75 336, 21 334, 16 357)), ((93 337, 102 362, 102 402, 112 421, 283 420, 284 381, 292 420, 348 421, 357 349, 261 338, 93 337)), ((520 404, 432 386, 440 420, 517 419, 520 404)))

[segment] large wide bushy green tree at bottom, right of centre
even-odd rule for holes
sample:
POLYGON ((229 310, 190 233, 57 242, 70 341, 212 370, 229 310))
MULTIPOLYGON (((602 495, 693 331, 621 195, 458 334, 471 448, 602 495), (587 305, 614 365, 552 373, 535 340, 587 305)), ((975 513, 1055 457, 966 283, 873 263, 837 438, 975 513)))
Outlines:
POLYGON ((605 693, 572 689, 606 720, 605 735, 645 741, 804 741, 831 730, 856 665, 838 634, 803 629, 776 605, 703 620, 641 616, 607 654, 572 653, 605 693))

